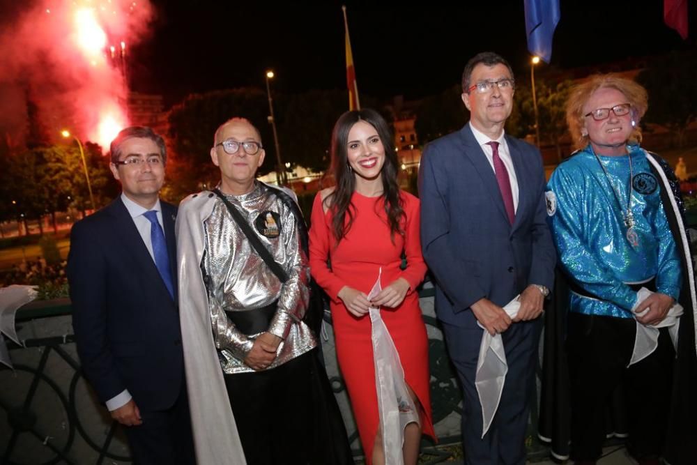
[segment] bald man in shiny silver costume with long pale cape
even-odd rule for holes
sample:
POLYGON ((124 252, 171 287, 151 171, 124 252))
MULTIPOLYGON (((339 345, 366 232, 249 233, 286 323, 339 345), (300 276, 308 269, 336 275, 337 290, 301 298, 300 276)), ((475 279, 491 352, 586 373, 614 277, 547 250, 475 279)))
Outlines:
POLYGON ((250 121, 221 125, 210 156, 220 184, 187 197, 176 224, 197 459, 325 463, 317 462, 319 441, 313 441, 323 426, 311 413, 317 341, 302 321, 310 282, 304 223, 287 194, 254 178, 265 151, 250 121), (233 210, 247 223, 246 233, 233 210), (247 234, 261 240, 285 280, 247 234))

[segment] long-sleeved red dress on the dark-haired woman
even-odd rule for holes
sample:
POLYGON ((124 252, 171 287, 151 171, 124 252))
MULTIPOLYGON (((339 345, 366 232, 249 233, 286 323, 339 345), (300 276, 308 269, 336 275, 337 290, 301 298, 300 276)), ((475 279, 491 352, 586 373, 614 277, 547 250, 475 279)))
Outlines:
POLYGON ((344 286, 368 294, 381 267, 383 289, 399 277, 409 283, 410 289, 401 305, 395 309, 383 308, 381 316, 399 352, 406 383, 424 409, 422 432, 435 438, 429 394, 428 338, 419 296, 414 292, 427 270, 421 254, 419 199, 403 191, 399 195, 406 213, 406 220, 402 222, 405 236, 395 234, 394 243, 390 238, 383 197, 365 197, 358 192, 351 197, 355 206, 353 224, 338 246, 332 233, 332 213, 324 212, 320 193, 314 199, 309 231, 310 271, 332 299, 337 358, 368 464, 372 462, 379 421, 370 317, 367 314, 354 317, 337 294, 344 286), (399 269, 402 250, 408 264, 405 270, 399 269), (327 259, 330 259, 331 270, 327 259))

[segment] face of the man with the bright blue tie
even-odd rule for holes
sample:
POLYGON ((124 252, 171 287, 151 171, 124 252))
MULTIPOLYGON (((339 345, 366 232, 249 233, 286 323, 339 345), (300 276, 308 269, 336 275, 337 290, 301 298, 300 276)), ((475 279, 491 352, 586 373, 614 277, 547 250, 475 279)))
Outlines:
MULTIPOLYGON (((121 162, 134 157, 141 159, 158 157, 162 161, 158 144, 145 137, 125 139, 120 144, 120 153, 118 161, 121 162)), ((162 184, 164 184, 163 162, 133 165, 114 165, 112 163, 109 167, 114 178, 121 181, 121 188, 126 197, 146 208, 155 204, 162 184)))

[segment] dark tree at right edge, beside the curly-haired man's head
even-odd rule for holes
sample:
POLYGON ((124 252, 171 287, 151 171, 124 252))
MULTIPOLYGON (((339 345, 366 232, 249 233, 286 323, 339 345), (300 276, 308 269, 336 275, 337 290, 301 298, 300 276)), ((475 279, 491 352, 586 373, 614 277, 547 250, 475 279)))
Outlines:
POLYGON ((687 127, 697 119, 697 52, 671 52, 650 61, 636 81, 649 94, 645 121, 665 125, 682 148, 687 127))

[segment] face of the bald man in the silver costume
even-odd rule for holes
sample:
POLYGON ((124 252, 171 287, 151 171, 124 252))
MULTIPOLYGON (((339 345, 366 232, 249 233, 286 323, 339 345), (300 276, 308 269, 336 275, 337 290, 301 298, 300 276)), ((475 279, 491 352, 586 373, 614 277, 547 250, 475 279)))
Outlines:
POLYGON ((228 194, 242 195, 252 190, 256 169, 261 166, 265 155, 263 148, 259 148, 254 155, 248 155, 242 142, 256 142, 261 146, 259 132, 248 121, 233 119, 216 132, 216 146, 210 149, 213 165, 220 167, 222 190, 228 194), (225 153, 219 145, 225 140, 239 142, 238 151, 232 155, 225 153))

